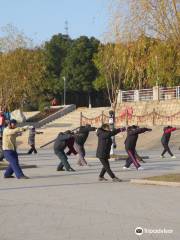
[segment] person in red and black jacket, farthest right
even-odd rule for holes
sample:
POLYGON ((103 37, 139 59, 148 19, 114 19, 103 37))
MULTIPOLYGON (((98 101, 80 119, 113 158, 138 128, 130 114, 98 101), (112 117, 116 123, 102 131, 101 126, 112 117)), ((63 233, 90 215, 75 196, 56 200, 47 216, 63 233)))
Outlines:
POLYGON ((161 157, 164 158, 164 154, 166 152, 169 153, 169 155, 172 157, 172 158, 176 158, 173 153, 171 152, 170 148, 169 148, 169 141, 170 141, 170 138, 171 138, 171 133, 173 131, 176 131, 176 130, 179 130, 177 128, 173 128, 171 126, 167 126, 163 129, 163 135, 162 135, 162 138, 161 138, 161 143, 164 147, 164 150, 163 152, 161 153, 161 157))

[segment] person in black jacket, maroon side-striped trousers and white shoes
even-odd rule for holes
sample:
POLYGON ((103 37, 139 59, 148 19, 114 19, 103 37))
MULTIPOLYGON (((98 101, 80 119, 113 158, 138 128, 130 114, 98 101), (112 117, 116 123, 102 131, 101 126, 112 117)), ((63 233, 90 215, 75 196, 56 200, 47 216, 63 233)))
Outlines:
POLYGON ((146 131, 152 131, 150 128, 140 128, 138 126, 130 126, 127 129, 127 137, 125 140, 125 149, 128 154, 126 164, 123 169, 129 169, 133 163, 137 170, 143 170, 136 157, 136 143, 138 140, 138 135, 146 131))

